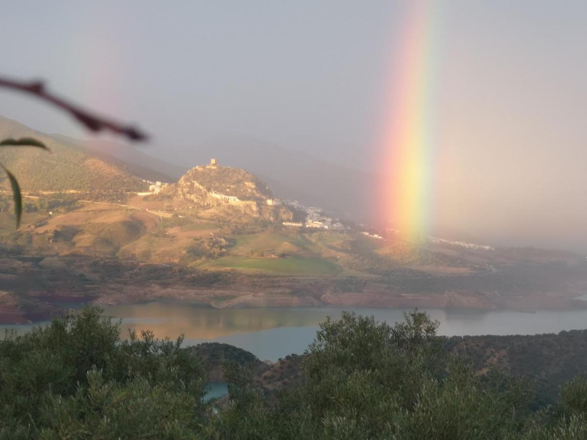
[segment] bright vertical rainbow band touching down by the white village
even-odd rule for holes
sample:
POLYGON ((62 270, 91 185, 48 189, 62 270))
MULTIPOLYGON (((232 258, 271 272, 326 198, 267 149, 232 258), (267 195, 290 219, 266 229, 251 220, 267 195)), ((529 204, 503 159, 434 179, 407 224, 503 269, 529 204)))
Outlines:
POLYGON ((409 2, 393 59, 390 99, 384 110, 381 149, 387 227, 417 239, 429 232, 434 159, 434 6, 409 2))

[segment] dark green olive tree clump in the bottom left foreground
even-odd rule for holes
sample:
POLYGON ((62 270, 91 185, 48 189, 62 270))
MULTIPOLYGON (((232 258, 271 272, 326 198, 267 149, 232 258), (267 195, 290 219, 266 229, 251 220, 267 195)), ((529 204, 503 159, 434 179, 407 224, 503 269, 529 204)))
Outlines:
POLYGON ((193 351, 149 331, 120 339, 97 307, 0 341, 0 438, 181 438, 204 417, 193 351))

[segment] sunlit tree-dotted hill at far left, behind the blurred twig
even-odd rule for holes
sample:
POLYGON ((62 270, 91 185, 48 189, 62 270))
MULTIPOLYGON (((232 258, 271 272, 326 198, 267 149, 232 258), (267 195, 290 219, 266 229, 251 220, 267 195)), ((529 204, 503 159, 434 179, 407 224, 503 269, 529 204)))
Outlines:
MULTIPOLYGON (((173 180, 164 172, 86 147, 83 141, 41 133, 0 116, 0 138, 9 137, 34 137, 50 149, 50 153, 23 147, 0 150, 0 163, 16 175, 23 191, 143 191, 148 188, 143 179, 173 180)), ((140 154, 135 156, 141 157, 140 154)), ((4 175, 0 176, 0 185, 8 188, 4 175)))

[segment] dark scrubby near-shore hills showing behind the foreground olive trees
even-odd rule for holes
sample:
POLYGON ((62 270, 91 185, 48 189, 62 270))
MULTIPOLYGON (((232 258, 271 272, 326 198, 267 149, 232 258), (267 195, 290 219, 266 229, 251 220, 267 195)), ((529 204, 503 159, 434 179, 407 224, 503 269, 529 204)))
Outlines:
MULTIPOLYGON (((561 331, 558 334, 511 336, 442 337, 446 349, 473 363, 479 374, 490 368, 532 381, 536 391, 532 407, 553 404, 560 387, 577 374, 587 373, 587 330, 561 331)), ((303 361, 308 354, 289 354, 266 364, 252 353, 228 344, 208 343, 191 348, 203 356, 211 380, 222 381, 222 356, 253 367, 252 384, 265 393, 295 387, 303 380, 303 361)))

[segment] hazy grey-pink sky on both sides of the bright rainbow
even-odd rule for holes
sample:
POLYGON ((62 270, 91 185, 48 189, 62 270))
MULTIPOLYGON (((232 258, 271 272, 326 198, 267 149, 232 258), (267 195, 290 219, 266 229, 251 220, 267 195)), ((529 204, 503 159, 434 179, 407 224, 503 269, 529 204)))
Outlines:
MULTIPOLYGON (((49 80, 136 121, 146 150, 256 138, 326 161, 377 161, 397 41, 413 1, 2 4, 0 72, 49 80)), ((587 2, 445 0, 434 13, 440 229, 587 251, 587 2)), ((88 137, 0 90, 0 113, 88 137)))

